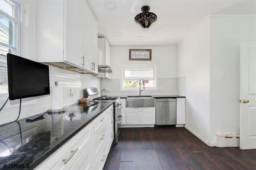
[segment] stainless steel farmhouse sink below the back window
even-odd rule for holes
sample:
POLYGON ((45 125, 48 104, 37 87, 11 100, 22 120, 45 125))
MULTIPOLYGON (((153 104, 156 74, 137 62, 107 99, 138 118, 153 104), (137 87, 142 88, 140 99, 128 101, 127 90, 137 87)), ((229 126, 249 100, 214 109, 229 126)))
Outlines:
POLYGON ((126 107, 155 107, 155 99, 151 96, 128 96, 126 107))

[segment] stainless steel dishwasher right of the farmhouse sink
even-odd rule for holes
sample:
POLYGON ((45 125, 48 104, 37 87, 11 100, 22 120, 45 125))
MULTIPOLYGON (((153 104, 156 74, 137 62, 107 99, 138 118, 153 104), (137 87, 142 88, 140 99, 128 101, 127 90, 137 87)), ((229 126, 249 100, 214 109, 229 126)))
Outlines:
POLYGON ((176 99, 156 99, 156 125, 176 125, 176 99))

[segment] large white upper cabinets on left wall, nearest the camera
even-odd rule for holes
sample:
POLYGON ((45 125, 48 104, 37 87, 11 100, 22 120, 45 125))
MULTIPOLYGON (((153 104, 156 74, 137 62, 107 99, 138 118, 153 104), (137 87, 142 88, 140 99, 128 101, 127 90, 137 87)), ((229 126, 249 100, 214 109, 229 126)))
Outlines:
POLYGON ((85 0, 37 1, 36 60, 98 73, 97 23, 85 0))

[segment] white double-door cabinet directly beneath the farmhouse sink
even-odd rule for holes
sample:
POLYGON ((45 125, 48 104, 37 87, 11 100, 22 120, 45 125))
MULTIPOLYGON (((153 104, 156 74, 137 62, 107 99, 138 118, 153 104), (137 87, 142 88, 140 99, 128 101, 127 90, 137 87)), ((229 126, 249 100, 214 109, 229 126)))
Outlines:
POLYGON ((126 125, 155 125, 156 111, 154 107, 126 108, 126 125))

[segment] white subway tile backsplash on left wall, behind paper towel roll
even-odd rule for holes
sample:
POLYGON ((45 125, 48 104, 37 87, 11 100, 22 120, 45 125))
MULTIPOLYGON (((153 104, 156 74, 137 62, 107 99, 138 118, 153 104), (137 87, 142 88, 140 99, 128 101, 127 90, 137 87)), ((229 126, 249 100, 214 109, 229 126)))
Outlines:
MULTIPOLYGON (((49 66, 50 69, 50 86, 54 86, 54 82, 58 81, 58 85, 63 87, 63 105, 72 105, 78 103, 78 99, 83 97, 83 89, 88 87, 96 87, 101 89, 101 79, 92 75, 79 74, 74 71, 68 71, 49 66), (70 89, 73 95, 70 96, 70 89)), ((51 96, 44 95, 34 97, 36 104, 22 106, 20 119, 44 113, 51 109, 51 96)), ((3 103, 0 103, 2 105, 3 103)), ((0 113, 0 125, 14 121, 18 117, 18 107, 3 109, 0 113)))

